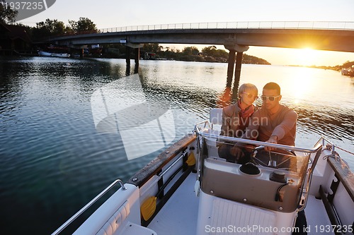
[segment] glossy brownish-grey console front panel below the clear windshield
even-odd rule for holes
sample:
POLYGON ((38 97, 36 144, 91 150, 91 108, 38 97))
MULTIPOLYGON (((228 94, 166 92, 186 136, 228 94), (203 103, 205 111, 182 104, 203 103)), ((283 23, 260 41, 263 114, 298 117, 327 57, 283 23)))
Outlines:
POLYGON ((294 212, 304 183, 304 174, 301 173, 208 157, 202 170, 201 190, 239 203, 294 212))

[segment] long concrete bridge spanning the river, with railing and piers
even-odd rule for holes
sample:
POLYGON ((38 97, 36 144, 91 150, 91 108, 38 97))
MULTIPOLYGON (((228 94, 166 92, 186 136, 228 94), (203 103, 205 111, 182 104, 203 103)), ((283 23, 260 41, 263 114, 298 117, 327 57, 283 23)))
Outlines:
MULTIPOLYGON (((354 22, 267 21, 234 23, 182 23, 105 28, 96 33, 52 37, 52 42, 68 47, 85 44, 122 43, 135 48, 139 64, 139 47, 144 43, 214 44, 229 50, 228 81, 232 73, 239 78, 242 53, 255 47, 312 48, 354 52, 354 22), (236 56, 237 52, 237 56, 236 56), (236 57, 236 70, 234 62, 236 57)), ((130 54, 130 53, 127 53, 130 54)), ((130 63, 130 58, 127 58, 130 63)))

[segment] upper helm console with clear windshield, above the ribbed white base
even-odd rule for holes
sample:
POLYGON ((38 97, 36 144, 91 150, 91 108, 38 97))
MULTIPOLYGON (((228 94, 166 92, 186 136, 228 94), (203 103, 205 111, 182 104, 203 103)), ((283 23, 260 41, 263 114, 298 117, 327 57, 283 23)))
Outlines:
POLYGON ((209 133, 210 130, 204 129, 199 135, 203 193, 273 211, 297 210, 309 154, 297 152, 295 155, 289 150, 268 152, 257 147, 249 150, 250 162, 227 162, 217 154, 219 144, 235 145, 252 140, 224 137, 225 141, 219 135, 209 133))

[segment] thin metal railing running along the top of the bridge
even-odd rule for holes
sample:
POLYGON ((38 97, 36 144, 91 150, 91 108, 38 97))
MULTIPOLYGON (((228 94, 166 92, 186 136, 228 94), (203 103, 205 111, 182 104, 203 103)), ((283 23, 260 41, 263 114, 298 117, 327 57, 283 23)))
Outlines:
POLYGON ((214 23, 176 23, 164 25, 136 25, 117 28, 103 28, 99 32, 130 32, 143 30, 181 29, 312 29, 312 30, 354 30, 354 22, 343 21, 249 21, 214 23))

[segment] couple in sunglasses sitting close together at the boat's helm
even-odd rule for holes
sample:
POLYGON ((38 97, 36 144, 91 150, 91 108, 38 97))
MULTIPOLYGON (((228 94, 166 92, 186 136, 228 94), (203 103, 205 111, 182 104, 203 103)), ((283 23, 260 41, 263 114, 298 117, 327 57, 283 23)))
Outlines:
MULTIPOLYGON (((222 128, 220 135, 246 138, 281 145, 295 145, 297 113, 280 104, 280 86, 267 83, 263 87, 262 107, 257 108, 253 102, 258 98, 256 85, 244 83, 239 87, 239 100, 236 104, 222 110, 222 128)), ((279 152, 274 147, 265 147, 266 151, 279 152)), ((245 164, 251 162, 250 152, 253 147, 241 143, 219 143, 219 157, 227 162, 245 164)), ((275 157, 277 158, 277 157, 275 157)), ((276 162, 284 162, 278 155, 276 162)), ((285 161, 286 162, 286 161, 285 161)), ((268 164, 264 162, 264 164, 268 164)), ((290 161, 277 168, 290 168, 290 161)))

